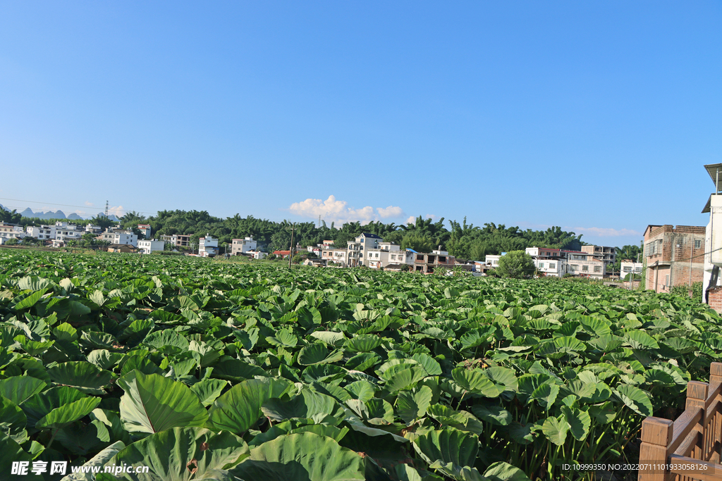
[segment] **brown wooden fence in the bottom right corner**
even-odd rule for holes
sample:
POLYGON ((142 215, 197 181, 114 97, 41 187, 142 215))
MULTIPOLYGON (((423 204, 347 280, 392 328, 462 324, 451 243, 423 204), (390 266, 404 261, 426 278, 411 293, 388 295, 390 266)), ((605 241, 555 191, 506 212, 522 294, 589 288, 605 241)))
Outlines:
POLYGON ((642 423, 639 481, 722 481, 722 363, 710 382, 687 384, 687 405, 674 421, 642 423))

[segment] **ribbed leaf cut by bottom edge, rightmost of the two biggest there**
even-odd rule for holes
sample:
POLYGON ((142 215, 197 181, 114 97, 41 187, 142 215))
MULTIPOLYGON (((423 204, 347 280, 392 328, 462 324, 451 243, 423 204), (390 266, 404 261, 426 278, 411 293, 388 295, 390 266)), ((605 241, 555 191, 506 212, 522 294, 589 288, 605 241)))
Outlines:
POLYGON ((361 481, 364 459, 316 433, 280 436, 251 449, 251 456, 231 469, 241 480, 361 481))

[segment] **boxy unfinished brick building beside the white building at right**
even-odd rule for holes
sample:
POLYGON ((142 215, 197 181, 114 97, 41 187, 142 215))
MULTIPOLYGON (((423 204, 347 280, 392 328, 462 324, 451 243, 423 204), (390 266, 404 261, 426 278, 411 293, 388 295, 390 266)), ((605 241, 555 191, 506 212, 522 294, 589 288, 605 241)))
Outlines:
POLYGON ((669 292, 703 278, 705 228, 700 226, 647 226, 644 231, 645 286, 669 292))

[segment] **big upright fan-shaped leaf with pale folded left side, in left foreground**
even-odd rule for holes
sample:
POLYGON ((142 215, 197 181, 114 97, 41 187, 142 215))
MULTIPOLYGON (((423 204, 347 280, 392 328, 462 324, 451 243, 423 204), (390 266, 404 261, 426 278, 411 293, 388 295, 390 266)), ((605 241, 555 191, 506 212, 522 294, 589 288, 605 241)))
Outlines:
POLYGON ((131 371, 118 379, 121 420, 131 433, 157 433, 176 426, 201 426, 208 413, 198 396, 178 381, 160 374, 131 371))

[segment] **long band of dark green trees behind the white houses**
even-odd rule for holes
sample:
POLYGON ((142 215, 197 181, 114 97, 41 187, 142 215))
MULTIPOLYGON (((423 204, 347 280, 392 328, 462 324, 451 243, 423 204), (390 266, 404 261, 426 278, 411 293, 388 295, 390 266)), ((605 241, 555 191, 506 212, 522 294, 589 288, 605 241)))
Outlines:
MULTIPOLYGON (((17 213, 6 211, 1 211, 0 216, 5 222, 23 226, 53 222, 19 217, 17 213)), ((116 224, 102 216, 73 223, 92 223, 103 227, 116 224)), ((253 216, 241 217, 238 214, 222 219, 211 216, 207 211, 159 211, 155 216, 146 217, 133 211, 123 216, 119 223, 124 229, 134 229, 136 234, 139 234, 138 224, 149 224, 155 238, 161 235, 190 234, 191 242, 196 245, 199 237, 206 234, 219 239, 221 245, 230 244, 231 239, 252 236, 261 247, 269 251, 287 250, 291 243, 291 221, 275 222, 253 216)), ((388 242, 395 242, 402 249, 430 252, 440 246, 451 255, 470 260, 483 260, 487 254, 512 252, 531 246, 578 250, 584 244, 581 235, 563 231, 558 226, 545 231, 523 230, 492 222, 474 226, 467 224, 466 218, 461 222, 449 221, 446 225, 443 218, 433 221, 421 216, 406 225, 377 221, 363 226, 360 222, 349 222, 336 227, 333 222, 330 226, 325 221, 321 221, 321 226, 313 222, 301 222, 295 224, 295 229, 295 241, 302 247, 320 244, 323 240, 333 240, 336 245, 345 247, 347 241, 362 232, 368 232, 388 242)))

